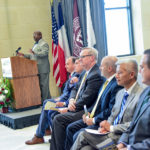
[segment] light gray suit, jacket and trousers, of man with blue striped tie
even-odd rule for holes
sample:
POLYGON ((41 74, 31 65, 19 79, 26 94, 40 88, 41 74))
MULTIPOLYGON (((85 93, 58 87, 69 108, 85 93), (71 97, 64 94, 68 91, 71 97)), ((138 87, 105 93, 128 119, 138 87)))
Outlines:
MULTIPOLYGON (((115 105, 113 106, 111 115, 107 120, 111 125, 113 125, 114 120, 116 119, 116 117, 118 116, 118 114, 120 112, 122 99, 124 96, 124 90, 125 89, 120 90, 116 95, 115 105)), ((135 86, 133 87, 130 95, 127 98, 122 118, 120 119, 120 121, 117 125, 113 126, 114 132, 110 132, 107 135, 98 136, 98 135, 91 134, 91 133, 84 131, 83 134, 84 134, 84 139, 86 139, 86 142, 88 142, 89 145, 91 145, 92 147, 94 147, 96 149, 100 149, 103 146, 107 146, 107 144, 110 144, 110 142, 112 142, 112 140, 113 140, 113 142, 117 143, 121 134, 124 131, 126 131, 130 125, 130 122, 133 117, 133 113, 135 111, 137 102, 139 100, 140 93, 142 91, 143 91, 143 88, 138 83, 136 83, 135 86)), ((81 138, 81 141, 83 142, 82 138, 81 138)), ((76 147, 78 147, 78 146, 80 147, 82 145, 80 143, 81 141, 80 141, 80 138, 77 138, 73 148, 76 149, 76 147)))

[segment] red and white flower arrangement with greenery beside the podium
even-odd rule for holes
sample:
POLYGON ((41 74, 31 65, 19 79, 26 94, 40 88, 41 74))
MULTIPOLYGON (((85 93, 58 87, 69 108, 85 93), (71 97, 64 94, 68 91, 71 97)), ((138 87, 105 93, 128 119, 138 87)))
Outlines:
POLYGON ((8 78, 0 78, 0 109, 2 113, 8 112, 8 107, 12 107, 12 88, 8 78))

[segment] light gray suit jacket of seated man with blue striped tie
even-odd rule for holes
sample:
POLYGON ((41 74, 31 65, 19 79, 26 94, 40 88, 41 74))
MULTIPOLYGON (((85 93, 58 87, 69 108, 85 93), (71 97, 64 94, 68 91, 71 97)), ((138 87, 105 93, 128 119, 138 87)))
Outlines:
POLYGON ((111 115, 108 118, 108 122, 111 125, 113 125, 114 132, 110 134, 110 137, 113 136, 113 139, 115 135, 117 137, 120 137, 120 135, 124 131, 126 131, 127 128, 129 127, 132 117, 133 117, 133 113, 138 103, 139 96, 142 91, 143 91, 143 88, 138 83, 136 83, 131 91, 131 94, 127 98, 126 104, 124 106, 124 112, 123 112, 122 118, 119 120, 119 123, 117 125, 113 125, 114 120, 118 116, 120 109, 121 109, 122 99, 124 96, 124 89, 120 90, 117 93, 115 105, 113 106, 111 115))

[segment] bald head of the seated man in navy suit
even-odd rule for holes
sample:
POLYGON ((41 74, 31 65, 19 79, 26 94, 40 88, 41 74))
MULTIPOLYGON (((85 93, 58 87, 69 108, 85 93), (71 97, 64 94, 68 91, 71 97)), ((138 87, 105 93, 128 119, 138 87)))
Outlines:
POLYGON ((101 61, 100 70, 102 76, 109 78, 116 73, 116 62, 118 61, 115 56, 106 56, 101 61))

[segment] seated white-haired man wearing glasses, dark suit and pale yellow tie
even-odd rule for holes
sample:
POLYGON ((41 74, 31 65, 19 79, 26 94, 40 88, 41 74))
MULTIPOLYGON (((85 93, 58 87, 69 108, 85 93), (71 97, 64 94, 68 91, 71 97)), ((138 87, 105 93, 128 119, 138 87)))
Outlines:
POLYGON ((89 108, 96 100, 100 86, 105 79, 100 75, 97 63, 98 51, 94 48, 84 48, 80 53, 80 60, 86 70, 83 78, 71 91, 68 112, 58 114, 53 119, 51 150, 64 150, 65 133, 68 124, 82 118, 83 106, 89 108))

